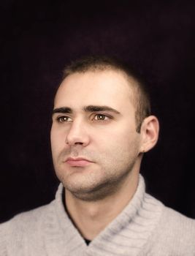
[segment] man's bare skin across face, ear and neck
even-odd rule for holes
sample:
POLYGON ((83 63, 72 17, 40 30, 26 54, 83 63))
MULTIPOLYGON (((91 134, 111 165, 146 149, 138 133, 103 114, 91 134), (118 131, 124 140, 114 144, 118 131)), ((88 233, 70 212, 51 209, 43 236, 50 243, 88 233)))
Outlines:
POLYGON ((113 70, 69 75, 56 94, 53 164, 66 189, 66 208, 88 239, 129 203, 137 188, 142 152, 158 139, 154 116, 145 118, 141 132, 136 132, 132 97, 129 81, 113 70), (103 110, 88 106, 103 106, 103 110), (69 157, 88 162, 74 166, 67 162, 69 157))

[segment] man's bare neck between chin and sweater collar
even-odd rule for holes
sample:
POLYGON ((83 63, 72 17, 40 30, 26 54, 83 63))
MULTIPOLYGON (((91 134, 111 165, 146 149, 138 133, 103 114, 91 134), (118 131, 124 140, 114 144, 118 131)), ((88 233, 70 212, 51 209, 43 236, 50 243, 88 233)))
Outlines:
POLYGON ((102 200, 80 200, 71 192, 66 191, 66 210, 84 238, 93 240, 123 211, 137 189, 138 178, 138 175, 132 176, 118 192, 102 200))

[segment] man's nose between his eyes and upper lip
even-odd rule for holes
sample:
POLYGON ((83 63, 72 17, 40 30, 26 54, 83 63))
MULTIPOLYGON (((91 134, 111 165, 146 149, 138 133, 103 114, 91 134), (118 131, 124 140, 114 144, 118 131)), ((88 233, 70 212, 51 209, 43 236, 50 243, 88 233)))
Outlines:
POLYGON ((66 144, 69 146, 87 146, 90 141, 89 131, 84 121, 74 120, 66 134, 66 144))

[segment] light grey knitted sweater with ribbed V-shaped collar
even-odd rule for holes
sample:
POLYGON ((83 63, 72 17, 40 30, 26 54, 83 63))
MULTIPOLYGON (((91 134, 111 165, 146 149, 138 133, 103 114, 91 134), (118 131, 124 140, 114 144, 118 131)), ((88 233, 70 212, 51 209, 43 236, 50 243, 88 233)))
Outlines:
POLYGON ((139 186, 129 205, 87 246, 62 201, 19 214, 0 225, 1 256, 195 256, 195 221, 165 207, 139 186))

